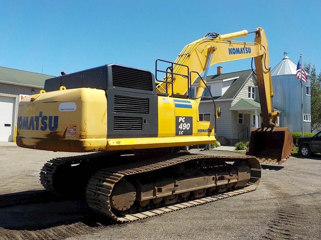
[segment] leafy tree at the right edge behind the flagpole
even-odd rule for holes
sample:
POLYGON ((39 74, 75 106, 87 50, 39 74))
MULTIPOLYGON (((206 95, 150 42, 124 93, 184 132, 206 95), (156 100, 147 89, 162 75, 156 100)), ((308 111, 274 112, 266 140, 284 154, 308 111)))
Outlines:
POLYGON ((316 74, 315 65, 304 64, 305 71, 310 74, 311 85, 311 132, 321 128, 321 71, 316 74))

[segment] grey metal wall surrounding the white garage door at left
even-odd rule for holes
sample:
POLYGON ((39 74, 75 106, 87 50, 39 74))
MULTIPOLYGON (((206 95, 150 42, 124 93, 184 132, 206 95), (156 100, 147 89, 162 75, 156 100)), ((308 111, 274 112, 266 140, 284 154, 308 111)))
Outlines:
MULTIPOLYGON (((43 88, 0 83, 0 96, 14 97, 16 99, 14 104, 15 116, 13 116, 13 126, 17 123, 19 95, 37 94, 41 89, 43 88), (35 90, 35 92, 31 92, 32 89, 35 90)), ((14 135, 14 127, 12 128, 12 134, 14 135)))

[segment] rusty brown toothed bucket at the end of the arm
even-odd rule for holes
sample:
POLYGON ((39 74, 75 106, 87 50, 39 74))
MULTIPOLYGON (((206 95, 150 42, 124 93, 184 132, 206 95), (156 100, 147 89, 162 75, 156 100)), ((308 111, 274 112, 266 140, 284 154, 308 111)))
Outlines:
POLYGON ((261 163, 284 163, 293 148, 292 134, 286 127, 253 128, 246 155, 256 156, 261 163))

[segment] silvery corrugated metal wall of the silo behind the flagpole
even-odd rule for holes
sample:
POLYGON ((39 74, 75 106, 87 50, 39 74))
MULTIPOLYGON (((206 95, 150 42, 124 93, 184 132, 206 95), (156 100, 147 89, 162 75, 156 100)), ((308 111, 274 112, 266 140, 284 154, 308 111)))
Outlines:
MULTIPOLYGON (((301 84, 296 75, 273 76, 273 107, 283 111, 281 115, 281 126, 287 127, 291 132, 301 132, 301 84)), ((303 112, 311 114, 311 97, 305 95, 303 82, 303 112)), ((311 132, 311 123, 304 122, 304 132, 311 132)))

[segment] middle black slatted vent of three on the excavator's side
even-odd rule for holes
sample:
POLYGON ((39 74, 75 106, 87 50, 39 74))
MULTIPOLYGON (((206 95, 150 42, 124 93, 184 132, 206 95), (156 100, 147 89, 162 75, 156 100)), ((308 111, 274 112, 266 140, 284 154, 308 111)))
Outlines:
POLYGON ((115 95, 114 112, 149 114, 149 98, 115 95))

